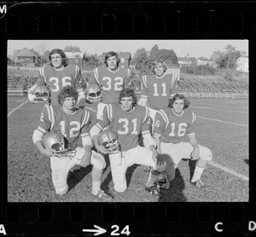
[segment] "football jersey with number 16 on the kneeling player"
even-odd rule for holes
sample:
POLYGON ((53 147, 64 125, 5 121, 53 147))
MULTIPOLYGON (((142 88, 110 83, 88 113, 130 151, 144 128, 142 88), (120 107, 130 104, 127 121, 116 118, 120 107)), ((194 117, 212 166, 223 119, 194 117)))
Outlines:
POLYGON ((155 116, 154 136, 160 137, 160 142, 184 142, 187 137, 195 136, 195 119, 195 113, 188 109, 180 115, 170 107, 160 109, 155 116))

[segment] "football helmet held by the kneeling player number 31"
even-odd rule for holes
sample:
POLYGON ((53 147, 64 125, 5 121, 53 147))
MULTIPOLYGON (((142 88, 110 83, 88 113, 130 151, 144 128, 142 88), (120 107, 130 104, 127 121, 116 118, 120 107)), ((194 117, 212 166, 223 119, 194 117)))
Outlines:
POLYGON ((108 153, 119 151, 117 135, 112 130, 102 130, 98 137, 99 144, 105 147, 108 153))

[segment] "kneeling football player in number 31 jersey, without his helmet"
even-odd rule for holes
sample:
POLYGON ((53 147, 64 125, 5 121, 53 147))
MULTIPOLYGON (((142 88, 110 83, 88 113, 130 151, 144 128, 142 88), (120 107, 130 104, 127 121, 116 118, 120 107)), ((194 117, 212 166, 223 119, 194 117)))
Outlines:
POLYGON ((148 108, 137 106, 137 97, 133 90, 121 90, 119 104, 108 104, 104 107, 102 120, 98 120, 91 128, 90 136, 98 152, 109 155, 114 189, 117 192, 124 192, 127 188, 127 168, 139 164, 153 167, 149 173, 146 190, 151 194, 160 194, 154 182, 160 171, 166 169, 166 160, 156 152, 154 139, 150 135, 148 108), (108 125, 118 137, 119 152, 108 153, 107 149, 99 144, 98 135, 108 125), (146 147, 139 146, 141 135, 146 147))

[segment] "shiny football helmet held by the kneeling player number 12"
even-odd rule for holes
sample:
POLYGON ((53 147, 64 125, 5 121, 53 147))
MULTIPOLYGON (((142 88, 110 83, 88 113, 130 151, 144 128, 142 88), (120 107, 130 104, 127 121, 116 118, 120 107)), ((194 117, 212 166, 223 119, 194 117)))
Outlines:
POLYGON ((43 146, 47 149, 54 149, 56 152, 66 151, 64 136, 61 133, 51 131, 43 137, 43 146))

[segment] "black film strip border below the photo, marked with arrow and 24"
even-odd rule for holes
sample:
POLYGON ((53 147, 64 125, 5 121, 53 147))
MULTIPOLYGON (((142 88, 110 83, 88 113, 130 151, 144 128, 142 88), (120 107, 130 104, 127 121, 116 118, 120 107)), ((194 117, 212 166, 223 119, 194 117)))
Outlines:
POLYGON ((131 236, 253 234, 256 213, 250 215, 249 208, 241 203, 9 204, 1 211, 0 233, 96 234, 103 229, 108 235, 131 236))

